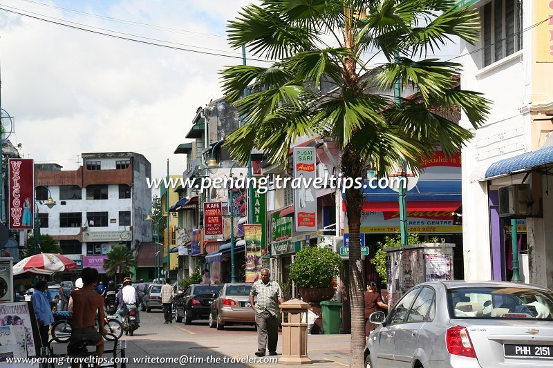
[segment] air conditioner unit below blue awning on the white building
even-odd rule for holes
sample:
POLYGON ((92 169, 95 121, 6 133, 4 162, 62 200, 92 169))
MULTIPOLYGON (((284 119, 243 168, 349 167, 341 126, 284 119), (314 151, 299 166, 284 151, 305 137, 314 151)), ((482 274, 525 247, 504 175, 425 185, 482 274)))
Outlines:
POLYGON ((530 184, 512 184, 499 188, 500 217, 529 217, 532 215, 530 184))

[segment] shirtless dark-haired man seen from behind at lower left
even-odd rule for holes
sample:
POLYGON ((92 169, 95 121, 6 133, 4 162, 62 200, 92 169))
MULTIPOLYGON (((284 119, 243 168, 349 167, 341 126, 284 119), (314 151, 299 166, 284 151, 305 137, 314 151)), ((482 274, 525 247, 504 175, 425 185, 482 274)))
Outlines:
MULTIPOLYGON (((86 354, 86 345, 95 345, 98 358, 104 353, 104 298, 94 290, 98 281, 98 270, 91 267, 82 269, 83 286, 71 292, 73 299, 73 320, 71 321, 71 336, 67 345, 68 355, 86 354), (94 328, 94 320, 98 313, 98 328, 94 328)), ((71 362, 72 368, 80 366, 79 362, 71 362)), ((95 365, 97 367, 97 365, 95 365)))

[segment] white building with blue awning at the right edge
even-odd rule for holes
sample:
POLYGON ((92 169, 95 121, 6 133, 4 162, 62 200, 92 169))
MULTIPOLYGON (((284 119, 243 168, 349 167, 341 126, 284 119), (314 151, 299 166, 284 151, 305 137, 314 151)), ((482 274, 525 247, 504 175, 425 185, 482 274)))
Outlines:
MULTIPOLYGON (((521 279, 551 288, 553 3, 468 3, 480 12, 482 35, 462 43, 461 85, 493 105, 462 151, 465 278, 511 280, 514 249, 521 279)), ((471 128, 466 116, 461 125, 471 128)))

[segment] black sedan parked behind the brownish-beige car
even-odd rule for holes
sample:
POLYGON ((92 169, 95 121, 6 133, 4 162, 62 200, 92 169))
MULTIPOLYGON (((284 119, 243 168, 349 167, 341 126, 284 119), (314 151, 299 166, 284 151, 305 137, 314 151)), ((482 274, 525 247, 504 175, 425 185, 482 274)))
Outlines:
POLYGON ((185 320, 185 325, 190 325, 192 320, 207 320, 209 309, 218 293, 217 285, 192 284, 184 293, 176 296, 176 321, 185 320))

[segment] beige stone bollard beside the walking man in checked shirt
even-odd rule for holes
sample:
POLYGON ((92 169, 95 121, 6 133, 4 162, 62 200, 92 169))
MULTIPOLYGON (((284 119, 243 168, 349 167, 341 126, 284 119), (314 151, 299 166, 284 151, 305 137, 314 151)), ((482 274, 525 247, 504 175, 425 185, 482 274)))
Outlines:
POLYGON ((280 364, 311 364, 307 356, 307 323, 301 322, 309 304, 288 300, 279 305, 282 310, 282 356, 280 364), (287 320, 288 322, 284 322, 287 320))

